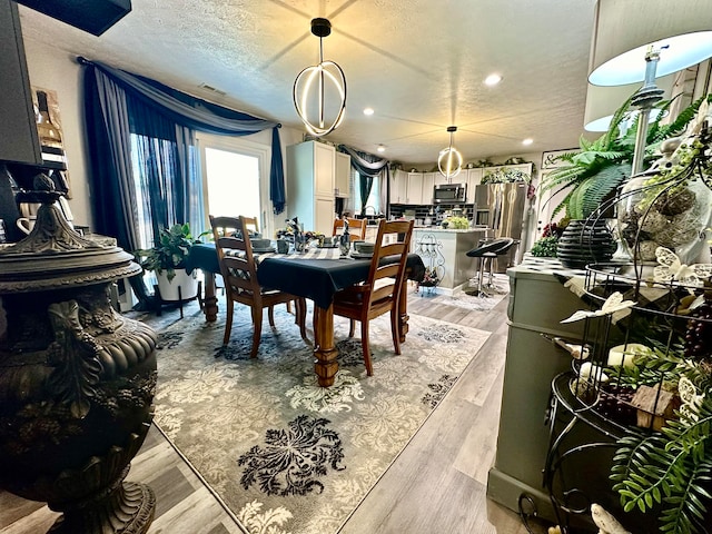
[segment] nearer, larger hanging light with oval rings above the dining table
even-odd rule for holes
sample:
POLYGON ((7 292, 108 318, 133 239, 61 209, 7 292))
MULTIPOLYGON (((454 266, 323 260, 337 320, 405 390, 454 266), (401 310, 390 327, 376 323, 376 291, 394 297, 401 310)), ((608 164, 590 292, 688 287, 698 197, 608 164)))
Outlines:
POLYGON ((342 68, 334 61, 324 61, 323 39, 332 33, 332 23, 327 19, 313 19, 312 33, 319 38, 319 63, 307 67, 299 72, 297 79, 294 80, 293 99, 297 115, 309 134, 322 137, 334 131, 344 120, 346 77, 342 68), (338 103, 330 106, 335 110, 335 118, 330 126, 327 123, 325 110, 328 87, 332 87, 338 96, 338 103), (308 99, 313 90, 316 91, 316 97, 309 106, 308 99))

